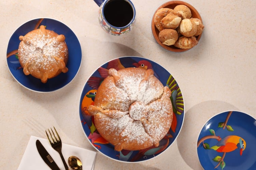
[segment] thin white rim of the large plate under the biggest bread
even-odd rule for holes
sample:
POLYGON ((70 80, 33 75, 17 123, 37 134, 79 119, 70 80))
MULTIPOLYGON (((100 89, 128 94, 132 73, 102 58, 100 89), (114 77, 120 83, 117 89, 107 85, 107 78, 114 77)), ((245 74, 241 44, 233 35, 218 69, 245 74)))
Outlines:
MULTIPOLYGON (((153 158, 155 158, 155 157, 158 157, 158 156, 161 155, 164 151, 167 151, 167 150, 171 147, 171 145, 173 145, 173 143, 177 140, 178 136, 179 136, 180 133, 181 133, 181 130, 182 130, 182 127, 183 127, 183 123, 184 123, 184 119, 185 119, 185 99, 184 99, 184 96, 183 96, 183 95, 182 95, 182 97, 183 97, 183 102, 184 102, 184 111, 183 111, 183 113, 182 113, 182 114, 183 114, 183 119, 182 119, 182 122, 181 122, 180 131, 177 133, 177 135, 176 135, 175 139, 173 140, 173 142, 171 143, 171 145, 169 145, 164 151, 162 151, 162 152, 159 153, 158 155, 156 155, 156 156, 154 156, 154 157, 152 157, 152 158, 146 159, 146 160, 140 160, 140 161, 135 161, 135 162, 129 162, 129 161, 123 161, 123 160, 119 160, 119 159, 114 159, 114 158, 112 158, 112 157, 110 157, 110 156, 108 156, 108 155, 102 153, 99 149, 97 149, 97 147, 95 147, 95 146, 93 145, 93 143, 91 143, 91 141, 90 141, 90 139, 88 138, 87 134, 85 133, 85 131, 84 131, 84 129, 83 129, 83 125, 82 125, 82 123, 81 123, 81 114, 82 114, 82 113, 81 113, 81 98, 82 98, 82 94, 83 94, 84 88, 85 88, 85 86, 86 86, 86 84, 87 84, 89 78, 97 71, 97 69, 98 69, 99 67, 101 67, 101 66, 107 64, 108 62, 110 62, 110 61, 112 61, 112 60, 120 59, 120 58, 125 58, 125 57, 141 58, 141 59, 143 59, 143 60, 146 59, 146 60, 148 60, 148 61, 154 62, 154 63, 156 63, 157 65, 161 66, 163 69, 165 69, 170 75, 172 75, 165 67, 163 67, 162 65, 158 64, 157 62, 155 62, 155 61, 153 61, 153 60, 150 60, 150 59, 148 59, 148 58, 145 58, 145 57, 139 57, 139 56, 121 56, 121 57, 112 58, 111 60, 108 60, 107 62, 104 62, 103 64, 99 65, 99 66, 95 69, 95 71, 93 71, 93 72, 89 75, 89 77, 86 79, 86 81, 85 81, 85 83, 84 83, 84 86, 83 86, 83 88, 82 88, 82 90, 81 90, 81 93, 80 93, 80 99, 79 99, 79 120, 80 120, 80 126, 81 126, 82 131, 83 131, 83 133, 84 133, 84 135, 85 135, 85 138, 86 138, 87 141, 90 143, 90 145, 93 146, 93 148, 96 149, 99 153, 101 153, 102 155, 104 155, 104 156, 106 156, 106 157, 108 157, 108 158, 110 158, 110 159, 112 159, 112 160, 115 160, 115 161, 118 161, 118 162, 122 162, 122 163, 142 163, 142 162, 146 162, 146 161, 148 161, 148 160, 151 160, 151 159, 153 159, 153 158)), ((176 81, 176 79, 175 79, 175 81, 176 81)), ((177 81, 176 81, 176 82, 177 82, 177 81)), ((177 82, 177 84, 179 85, 178 82, 177 82)), ((165 85, 164 85, 164 86, 165 86, 165 85)), ((179 85, 179 87, 180 87, 180 85, 179 85)), ((180 90, 181 90, 181 89, 180 89, 180 90)), ((182 90, 181 90, 181 94, 182 94, 182 90)), ((110 144, 110 145, 111 145, 111 144, 110 144)))

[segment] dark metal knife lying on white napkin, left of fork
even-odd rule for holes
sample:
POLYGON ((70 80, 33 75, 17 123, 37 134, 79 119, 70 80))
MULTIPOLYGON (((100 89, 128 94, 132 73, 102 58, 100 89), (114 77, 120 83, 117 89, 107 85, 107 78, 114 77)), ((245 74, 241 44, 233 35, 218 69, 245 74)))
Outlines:
POLYGON ((37 140, 35 142, 35 145, 37 146, 37 150, 44 160, 44 162, 52 169, 52 170, 60 170, 58 165, 54 162, 52 156, 46 151, 42 143, 37 140))

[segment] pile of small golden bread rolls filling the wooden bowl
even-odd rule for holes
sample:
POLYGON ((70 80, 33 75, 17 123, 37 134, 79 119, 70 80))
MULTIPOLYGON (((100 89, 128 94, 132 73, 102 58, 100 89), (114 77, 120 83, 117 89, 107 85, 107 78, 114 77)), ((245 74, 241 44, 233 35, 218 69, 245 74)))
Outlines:
POLYGON ((189 49, 198 44, 196 36, 202 34, 204 25, 198 18, 191 18, 186 5, 160 8, 154 16, 155 27, 159 30, 159 40, 167 46, 189 49))

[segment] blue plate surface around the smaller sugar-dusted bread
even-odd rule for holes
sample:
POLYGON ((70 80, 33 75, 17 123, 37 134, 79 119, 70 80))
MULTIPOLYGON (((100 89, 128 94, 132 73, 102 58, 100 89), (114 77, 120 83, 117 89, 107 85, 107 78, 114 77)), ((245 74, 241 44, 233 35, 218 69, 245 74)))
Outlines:
POLYGON ((11 36, 7 48, 7 64, 9 70, 11 71, 13 77, 24 87, 37 92, 51 92, 58 90, 67 84, 69 84, 75 77, 78 72, 81 60, 82 60, 82 50, 77 39, 76 35, 73 31, 67 27, 65 24, 60 21, 44 18, 40 23, 40 18, 30 20, 20 26, 11 36), (52 30, 57 34, 65 35, 66 44, 68 46, 69 51, 69 60, 67 63, 67 68, 69 69, 67 73, 60 73, 57 77, 49 79, 47 83, 41 83, 40 79, 34 78, 31 75, 25 75, 23 73, 23 68, 21 68, 18 58, 15 55, 15 50, 19 47, 19 36, 26 35, 28 32, 34 30, 36 25, 44 25, 46 29, 52 30), (13 53, 10 55, 10 53, 13 53))

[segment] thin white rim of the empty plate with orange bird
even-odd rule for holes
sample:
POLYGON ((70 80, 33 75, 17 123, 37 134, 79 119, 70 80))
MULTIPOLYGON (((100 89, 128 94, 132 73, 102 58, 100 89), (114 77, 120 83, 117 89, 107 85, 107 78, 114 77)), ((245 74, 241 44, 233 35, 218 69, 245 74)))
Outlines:
MULTIPOLYGON (((200 159, 199 159, 199 154, 198 154, 198 147, 197 147, 197 142, 198 142, 198 140, 199 140, 199 136, 200 136, 202 130, 204 129, 205 125, 206 125, 211 119, 213 119, 214 117, 216 117, 216 116, 218 116, 218 115, 221 115, 221 114, 224 114, 224 113, 228 113, 228 112, 231 112, 231 111, 232 111, 232 112, 239 112, 239 113, 242 113, 242 114, 244 114, 244 115, 250 116, 251 118, 253 118, 253 119, 256 121, 256 119, 255 119, 252 115, 250 115, 250 114, 248 114, 248 113, 245 113, 245 112, 243 112, 243 111, 239 111, 239 110, 226 110, 226 111, 218 112, 217 114, 215 114, 215 115, 213 115, 211 118, 209 118, 207 121, 205 121, 205 123, 203 124, 202 128, 200 129, 200 132, 198 132, 197 141, 196 141, 196 145, 195 145, 196 150, 197 150, 197 159, 198 159, 198 161, 199 161, 199 163, 200 163, 200 166, 201 166, 203 169, 205 169, 205 167, 203 167, 203 165, 201 164, 201 161, 200 161, 200 159)), ((255 135, 255 136, 256 136, 256 135, 255 135)), ((255 161, 255 162, 256 162, 256 161, 255 161)), ((214 167, 213 167, 213 168, 214 168, 214 167)))

